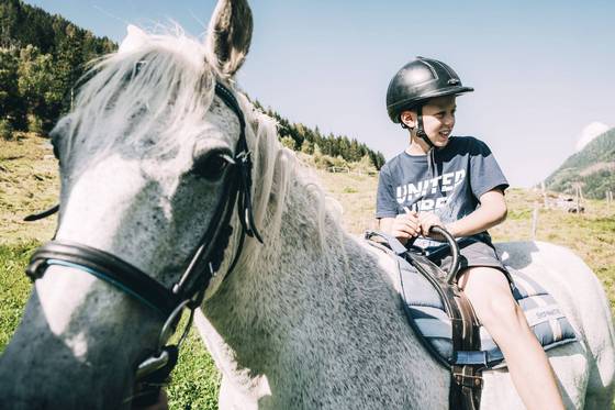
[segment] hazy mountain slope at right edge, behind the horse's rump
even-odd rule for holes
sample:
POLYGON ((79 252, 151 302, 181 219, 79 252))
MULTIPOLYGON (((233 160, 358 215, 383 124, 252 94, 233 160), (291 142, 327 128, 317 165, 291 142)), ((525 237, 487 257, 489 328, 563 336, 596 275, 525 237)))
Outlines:
POLYGON ((615 129, 595 137, 581 152, 570 156, 546 180, 547 189, 574 193, 580 185, 586 198, 605 198, 615 190, 615 129))

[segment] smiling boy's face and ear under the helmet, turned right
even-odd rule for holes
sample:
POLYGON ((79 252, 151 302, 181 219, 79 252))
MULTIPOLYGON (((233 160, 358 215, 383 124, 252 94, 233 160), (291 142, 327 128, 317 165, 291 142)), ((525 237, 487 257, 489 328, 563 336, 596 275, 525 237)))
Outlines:
MULTIPOLYGON (((437 147, 448 144, 455 126, 456 96, 433 98, 423 106, 423 126, 425 133, 437 147)), ((411 129, 417 125, 415 110, 402 112, 401 120, 411 129)))

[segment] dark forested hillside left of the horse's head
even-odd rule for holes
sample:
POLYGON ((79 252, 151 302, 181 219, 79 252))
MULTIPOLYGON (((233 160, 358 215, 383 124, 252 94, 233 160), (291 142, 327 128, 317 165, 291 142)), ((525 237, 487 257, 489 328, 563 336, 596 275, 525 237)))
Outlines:
POLYGON ((0 133, 48 131, 91 59, 116 45, 21 0, 0 1, 0 133))

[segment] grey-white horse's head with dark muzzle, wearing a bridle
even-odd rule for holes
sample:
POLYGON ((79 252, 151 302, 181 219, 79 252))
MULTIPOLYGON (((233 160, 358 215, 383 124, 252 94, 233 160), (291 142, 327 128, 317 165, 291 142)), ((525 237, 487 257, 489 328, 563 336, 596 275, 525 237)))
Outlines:
POLYGON ((130 407, 135 383, 172 362, 178 312, 215 292, 245 235, 260 239, 251 106, 233 86, 250 37, 247 3, 221 0, 204 44, 131 26, 89 71, 52 133, 58 229, 27 268, 0 407, 130 407))

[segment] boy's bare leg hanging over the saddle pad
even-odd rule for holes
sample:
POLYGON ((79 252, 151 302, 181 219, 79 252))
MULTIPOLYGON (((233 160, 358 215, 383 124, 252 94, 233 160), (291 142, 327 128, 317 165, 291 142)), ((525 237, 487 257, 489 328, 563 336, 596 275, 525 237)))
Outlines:
POLYGON ((555 374, 502 272, 471 267, 459 279, 477 317, 504 354, 527 409, 563 409, 555 374))

